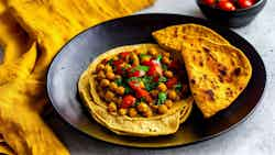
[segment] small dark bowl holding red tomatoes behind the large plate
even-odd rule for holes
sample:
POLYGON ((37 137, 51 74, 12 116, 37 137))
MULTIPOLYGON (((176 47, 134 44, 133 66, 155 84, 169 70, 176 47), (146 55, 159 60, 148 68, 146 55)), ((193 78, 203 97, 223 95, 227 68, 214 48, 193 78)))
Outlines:
POLYGON ((261 12, 267 0, 258 0, 254 5, 246 9, 237 9, 235 11, 223 11, 201 3, 196 0, 202 13, 211 21, 224 26, 240 27, 251 23, 261 12))

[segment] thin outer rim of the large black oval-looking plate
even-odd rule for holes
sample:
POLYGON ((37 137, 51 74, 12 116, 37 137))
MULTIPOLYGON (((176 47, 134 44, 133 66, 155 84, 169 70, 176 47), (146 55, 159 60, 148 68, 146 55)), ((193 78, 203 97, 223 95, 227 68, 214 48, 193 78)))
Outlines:
POLYGON ((216 134, 212 134, 212 135, 208 135, 206 137, 202 137, 198 141, 195 141, 195 142, 190 142, 190 143, 187 143, 187 144, 176 144, 176 145, 170 145, 170 146, 161 146, 161 147, 150 147, 150 146, 133 146, 133 145, 125 145, 125 144, 121 144, 121 143, 113 143, 112 141, 108 141, 108 140, 105 140, 105 139, 99 139, 99 137, 96 137, 96 136, 92 136, 90 134, 87 134, 85 132, 82 132, 81 130, 79 130, 77 126, 75 126, 74 124, 72 124, 69 121, 66 120, 66 118, 59 112, 58 108, 53 103, 53 97, 51 96, 51 86, 50 86, 50 81, 51 81, 51 70, 54 66, 54 62, 57 60, 59 58, 59 56, 62 55, 62 53, 64 53, 65 51, 63 51, 68 44, 70 44, 73 42, 73 40, 79 37, 79 35, 81 35, 82 33, 91 30, 91 29, 95 29, 97 26, 101 26, 101 25, 105 25, 105 24, 108 24, 109 22, 113 22, 113 21, 117 21, 117 20, 123 20, 123 19, 128 19, 128 18, 134 18, 134 16, 151 16, 151 15, 176 15, 176 16, 180 16, 180 18, 187 18, 187 19, 194 19, 198 22, 201 22, 201 23, 210 23, 211 25, 213 25, 215 27, 218 27, 218 29, 221 29, 221 30, 224 30, 224 31, 230 31, 231 33, 233 33, 234 35, 238 35, 240 36, 238 33, 235 33, 234 31, 228 29, 228 27, 223 27, 223 26, 219 26, 215 23, 212 23, 211 21, 208 21, 208 20, 205 20, 205 19, 200 19, 200 18, 196 18, 196 16, 191 16, 191 15, 185 15, 185 14, 176 14, 176 13, 139 13, 139 14, 133 14, 133 15, 128 15, 128 16, 123 16, 123 18, 118 18, 118 19, 113 19, 113 20, 108 20, 106 22, 102 22, 102 23, 99 23, 99 24, 96 24, 94 26, 90 26, 81 32, 79 32, 78 34, 76 34, 74 37, 72 37, 69 41, 67 41, 58 51, 58 53, 54 56, 54 58, 52 59, 51 62, 51 65, 47 69, 47 76, 46 76, 46 89, 47 89, 47 97, 50 98, 50 101, 52 103, 52 106, 54 107, 55 111, 57 112, 57 114, 62 118, 62 120, 64 122, 66 122, 66 124, 68 124, 69 126, 72 126, 73 129, 75 129, 77 132, 79 132, 80 134, 84 134, 85 136, 87 137, 92 137, 94 140, 97 140, 97 141, 101 141, 101 142, 107 142, 108 144, 111 144, 111 145, 116 145, 116 146, 123 146, 123 147, 129 147, 129 148, 139 148, 139 150, 142 150, 142 148, 146 148, 146 150, 165 150, 165 148, 175 148, 175 147, 180 147, 180 146, 189 146, 189 145, 193 145, 193 144, 197 144, 197 143, 200 143, 200 142, 205 142, 205 141, 208 141, 208 140, 211 140, 211 139, 215 139, 219 135, 222 135, 233 129, 235 129, 238 125, 240 125, 241 123, 243 123, 244 121, 246 121, 253 113, 254 111, 256 110, 256 108, 262 103, 262 99, 263 97, 265 96, 265 89, 266 89, 266 68, 265 68, 265 65, 264 65, 264 62, 262 59, 262 57, 260 56, 260 54, 257 53, 257 51, 255 49, 255 47, 249 43, 244 37, 240 36, 243 38, 243 41, 245 42, 245 44, 250 45, 251 47, 253 47, 253 49, 255 51, 255 54, 260 57, 261 62, 258 62, 260 64, 262 64, 263 66, 263 71, 264 71, 264 87, 263 89, 261 90, 262 91, 262 96, 260 97, 260 99, 257 100, 257 103, 256 106, 244 117, 242 118, 239 122, 237 122, 235 124, 229 126, 228 129, 219 132, 219 133, 216 133, 216 134))

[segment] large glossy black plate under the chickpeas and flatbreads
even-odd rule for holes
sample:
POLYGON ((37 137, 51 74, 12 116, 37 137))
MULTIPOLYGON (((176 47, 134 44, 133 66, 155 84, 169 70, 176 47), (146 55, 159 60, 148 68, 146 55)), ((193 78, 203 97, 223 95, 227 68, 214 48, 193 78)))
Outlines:
POLYGON ((224 133, 244 121, 257 106, 265 88, 264 64, 255 48, 234 32, 197 18, 178 14, 142 14, 112 20, 90 27, 68 42, 54 58, 47 75, 50 99, 61 117, 87 135, 113 144, 134 147, 170 147, 193 144, 224 133), (153 31, 183 23, 211 27, 239 47, 250 59, 253 74, 246 89, 228 109, 209 120, 195 108, 188 121, 174 135, 151 139, 116 135, 96 123, 81 106, 78 78, 101 53, 113 47, 154 43, 153 31))

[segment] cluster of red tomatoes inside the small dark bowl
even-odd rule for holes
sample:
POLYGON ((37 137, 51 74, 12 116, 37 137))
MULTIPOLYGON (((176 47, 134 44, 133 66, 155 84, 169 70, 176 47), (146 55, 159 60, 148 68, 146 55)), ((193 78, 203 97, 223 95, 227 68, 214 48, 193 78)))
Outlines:
POLYGON ((224 11, 235 11, 241 8, 250 8, 251 5, 256 3, 256 0, 201 0, 202 3, 219 8, 224 11))

